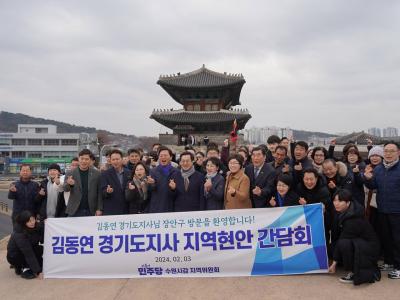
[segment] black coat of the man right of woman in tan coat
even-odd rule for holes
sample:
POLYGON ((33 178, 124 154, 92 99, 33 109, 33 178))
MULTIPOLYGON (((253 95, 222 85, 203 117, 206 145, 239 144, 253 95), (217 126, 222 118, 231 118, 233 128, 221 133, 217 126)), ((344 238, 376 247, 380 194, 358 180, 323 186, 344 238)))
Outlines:
POLYGON ((269 203, 267 199, 271 198, 275 191, 275 169, 270 164, 265 162, 259 171, 257 178, 254 176, 253 164, 247 166, 244 172, 250 179, 250 199, 253 207, 268 207, 269 203), (253 189, 256 186, 261 189, 260 196, 253 194, 253 189))

